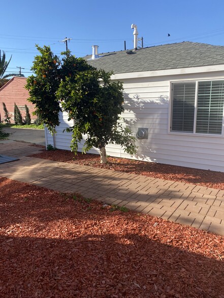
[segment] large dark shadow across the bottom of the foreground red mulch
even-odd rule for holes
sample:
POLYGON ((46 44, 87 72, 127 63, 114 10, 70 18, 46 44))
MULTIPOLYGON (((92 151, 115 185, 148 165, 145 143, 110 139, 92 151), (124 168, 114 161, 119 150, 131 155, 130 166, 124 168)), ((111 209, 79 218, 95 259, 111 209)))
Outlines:
POLYGON ((146 235, 82 229, 1 235, 1 296, 223 297, 221 261, 146 235))

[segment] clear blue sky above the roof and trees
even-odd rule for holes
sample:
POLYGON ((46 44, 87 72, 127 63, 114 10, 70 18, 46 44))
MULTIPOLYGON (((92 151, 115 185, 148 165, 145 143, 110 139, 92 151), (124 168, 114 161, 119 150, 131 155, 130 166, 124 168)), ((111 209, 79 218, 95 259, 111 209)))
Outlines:
POLYGON ((223 11, 220 0, 11 0, 1 13, 0 49, 8 60, 12 55, 8 70, 24 67, 27 77, 38 54, 35 44, 50 45, 59 55, 66 48, 60 41, 71 38, 68 46, 77 57, 91 54, 92 45, 112 52, 123 50, 126 41, 132 49, 132 23, 144 47, 183 41, 224 46, 223 11))

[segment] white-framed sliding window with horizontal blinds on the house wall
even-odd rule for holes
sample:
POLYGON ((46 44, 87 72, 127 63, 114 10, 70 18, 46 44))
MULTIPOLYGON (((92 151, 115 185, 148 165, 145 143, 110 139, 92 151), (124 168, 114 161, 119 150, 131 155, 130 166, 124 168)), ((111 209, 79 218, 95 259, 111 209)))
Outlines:
POLYGON ((224 81, 172 84, 171 132, 222 134, 224 81))

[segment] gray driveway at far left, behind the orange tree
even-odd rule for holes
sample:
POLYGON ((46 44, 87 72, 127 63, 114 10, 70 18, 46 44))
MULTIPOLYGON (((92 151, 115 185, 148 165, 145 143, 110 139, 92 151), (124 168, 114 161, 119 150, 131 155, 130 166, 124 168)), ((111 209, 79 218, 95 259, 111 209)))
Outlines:
POLYGON ((0 144, 11 141, 21 141, 38 145, 45 145, 45 136, 43 129, 25 129, 7 127, 3 129, 5 132, 11 133, 8 140, 0 140, 0 144))

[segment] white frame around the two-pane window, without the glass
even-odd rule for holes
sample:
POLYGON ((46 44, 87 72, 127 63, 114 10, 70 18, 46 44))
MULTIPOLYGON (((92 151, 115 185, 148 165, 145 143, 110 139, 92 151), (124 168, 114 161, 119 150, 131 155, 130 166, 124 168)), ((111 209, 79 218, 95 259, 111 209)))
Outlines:
POLYGON ((209 134, 209 133, 196 133, 196 123, 197 123, 197 104, 198 104, 198 86, 199 82, 211 82, 211 81, 224 81, 224 77, 221 78, 206 78, 206 79, 195 79, 195 80, 175 80, 175 81, 169 81, 170 82, 170 100, 169 100, 169 119, 168 119, 168 133, 169 134, 176 134, 176 135, 194 135, 194 136, 207 136, 207 137, 223 137, 224 135, 224 107, 223 107, 223 113, 222 113, 222 128, 221 128, 221 134, 209 134), (173 100, 173 84, 175 83, 196 83, 196 91, 195 91, 195 116, 194 116, 194 132, 178 132, 178 131, 172 131, 171 130, 171 122, 172 122, 172 100, 173 100))

